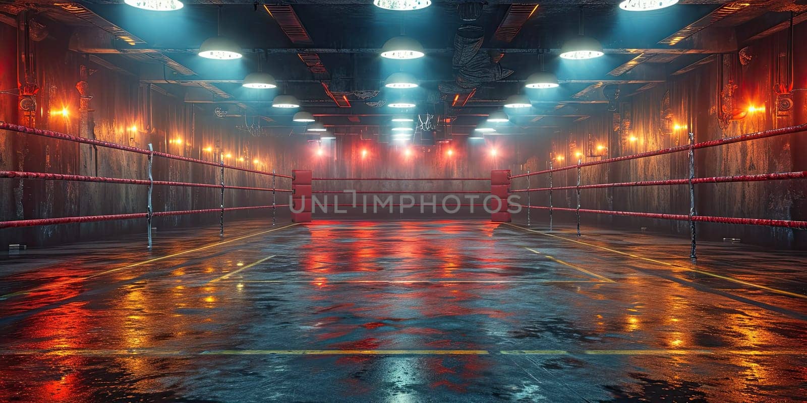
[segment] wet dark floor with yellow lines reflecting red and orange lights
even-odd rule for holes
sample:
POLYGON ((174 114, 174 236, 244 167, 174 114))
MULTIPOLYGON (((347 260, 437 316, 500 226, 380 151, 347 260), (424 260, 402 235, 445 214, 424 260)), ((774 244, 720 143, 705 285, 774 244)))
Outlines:
POLYGON ((707 244, 693 266, 652 235, 265 224, 2 261, 0 401, 807 396, 805 256, 707 244))

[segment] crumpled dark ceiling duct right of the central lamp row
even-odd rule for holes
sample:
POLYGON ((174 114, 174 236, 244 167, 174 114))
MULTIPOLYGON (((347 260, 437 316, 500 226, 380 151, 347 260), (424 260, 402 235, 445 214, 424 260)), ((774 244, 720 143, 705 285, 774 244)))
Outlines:
POLYGON ((440 85, 441 93, 470 93, 479 85, 499 81, 512 74, 512 70, 502 69, 487 52, 479 52, 483 40, 481 27, 469 25, 457 30, 452 60, 457 75, 453 83, 440 85))

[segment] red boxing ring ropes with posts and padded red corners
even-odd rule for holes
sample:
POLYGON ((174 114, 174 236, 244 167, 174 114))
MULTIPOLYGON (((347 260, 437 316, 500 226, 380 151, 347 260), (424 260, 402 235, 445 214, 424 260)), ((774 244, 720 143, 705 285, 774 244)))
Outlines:
MULTIPOLYGON (((48 180, 48 181, 85 181, 85 182, 101 182, 101 183, 114 183, 124 185, 148 186, 148 200, 144 202, 146 209, 144 212, 132 214, 108 214, 108 215, 92 215, 92 216, 77 216, 77 217, 61 217, 61 218, 33 218, 14 221, 0 222, 0 229, 2 228, 17 228, 23 226, 46 226, 54 224, 68 224, 80 222, 98 222, 98 221, 111 221, 111 220, 130 220, 130 219, 146 219, 148 226, 148 247, 152 246, 151 231, 152 220, 155 217, 166 217, 172 215, 184 214, 216 214, 220 215, 220 235, 224 235, 224 213, 227 211, 236 210, 259 210, 271 209, 273 225, 275 223, 275 215, 278 207, 289 207, 291 210, 291 218, 293 222, 311 222, 312 214, 316 216, 316 209, 327 211, 332 208, 335 212, 340 213, 345 210, 342 209, 358 209, 363 208, 363 212, 367 213, 367 195, 373 195, 373 212, 378 211, 378 205, 383 209, 389 209, 390 212, 397 208, 403 212, 404 209, 420 207, 421 213, 424 207, 432 207, 433 211, 437 206, 452 214, 459 209, 470 209, 470 213, 475 213, 479 210, 484 210, 489 214, 492 222, 511 222, 512 214, 521 212, 522 208, 526 209, 526 224, 532 225, 531 210, 547 210, 549 212, 549 227, 550 231, 553 226, 553 213, 555 211, 575 213, 577 235, 580 232, 580 214, 606 214, 613 216, 625 216, 636 218, 657 218, 664 220, 674 221, 687 221, 690 228, 690 257, 696 258, 696 222, 715 222, 725 224, 738 224, 738 225, 751 225, 751 226, 776 226, 792 229, 804 230, 807 229, 807 222, 797 220, 783 220, 783 219, 769 219, 769 218, 736 218, 736 217, 721 217, 699 215, 696 212, 696 185, 702 184, 717 184, 717 183, 730 183, 730 182, 751 182, 751 181, 788 181, 804 179, 807 177, 807 171, 797 172, 771 172, 754 175, 735 175, 728 177, 696 177, 695 165, 695 152, 699 149, 709 147, 719 147, 731 143, 742 143, 753 141, 756 139, 766 139, 781 135, 795 135, 807 131, 807 124, 802 124, 792 127, 782 127, 779 129, 769 131, 759 131, 746 135, 737 135, 727 137, 725 139, 714 139, 705 142, 695 143, 694 135, 689 134, 688 144, 664 148, 661 150, 642 152, 628 156, 617 156, 613 158, 606 158, 602 160, 594 160, 583 162, 578 160, 577 164, 571 164, 564 167, 553 168, 550 161, 550 167, 545 170, 536 172, 525 172, 517 175, 512 175, 510 170, 499 169, 492 170, 490 177, 454 177, 454 178, 399 178, 399 177, 315 177, 314 172, 311 170, 293 170, 291 175, 284 175, 274 172, 265 172, 249 168, 241 168, 232 165, 224 164, 224 161, 211 162, 207 160, 199 160, 186 156, 178 156, 165 152, 155 152, 152 149, 143 149, 137 147, 125 146, 117 143, 108 143, 96 139, 86 139, 74 135, 68 135, 56 131, 44 131, 31 127, 23 127, 9 123, 0 123, 0 130, 15 131, 26 135, 38 135, 50 139, 60 139, 73 143, 90 144, 97 147, 108 147, 125 152, 132 152, 148 157, 148 170, 144 175, 148 179, 127 179, 115 177, 90 177, 82 175, 65 175, 49 172, 17 172, 17 171, 0 171, 0 177, 9 179, 24 179, 24 180, 48 180), (632 181, 632 182, 618 182, 618 183, 597 183, 597 184, 583 184, 581 171, 583 168, 593 167, 603 164, 615 164, 626 160, 638 160, 651 156, 662 156, 667 154, 675 154, 679 152, 688 152, 688 172, 687 178, 676 178, 658 181, 632 181), (159 181, 153 179, 152 162, 155 158, 165 158, 169 160, 180 160, 191 164, 203 164, 207 166, 216 167, 220 171, 220 181, 217 184, 211 183, 194 183, 194 182, 180 182, 180 181, 159 181), (242 172, 251 172, 257 175, 271 177, 271 187, 250 187, 226 184, 224 182, 224 170, 233 169, 242 172), (554 186, 553 174, 562 171, 576 170, 577 184, 567 186, 554 186), (533 177, 538 175, 546 175, 548 186, 546 187, 531 187, 530 181, 533 177), (276 186, 277 179, 291 179, 291 189, 282 189, 276 186), (512 189, 512 181, 525 180, 526 187, 521 189, 512 189), (447 182, 462 183, 463 189, 449 190, 449 189, 428 189, 428 190, 388 190, 388 189, 370 189, 370 190, 348 190, 348 189, 320 189, 327 188, 328 182, 333 183, 362 183, 368 181, 378 181, 383 183, 397 183, 403 181, 419 181, 431 182, 432 184, 445 184, 447 182), (476 186, 477 189, 464 189, 464 183, 481 184, 481 186, 490 184, 489 187, 476 186), (317 185, 315 185, 317 184, 317 185), (593 210, 584 209, 581 205, 580 193, 586 189, 604 189, 604 188, 624 188, 624 187, 642 187, 642 186, 668 186, 668 185, 687 185, 689 189, 689 211, 688 214, 675 214, 675 213, 652 213, 652 212, 636 212, 636 211, 621 211, 621 210, 593 210), (176 186, 176 187, 198 187, 198 188, 211 188, 220 189, 221 204, 217 209, 203 209, 203 210, 174 210, 174 211, 158 211, 152 210, 152 191, 154 186, 176 186), (271 203, 262 206, 224 206, 224 192, 225 190, 257 190, 262 192, 271 192, 271 203), (561 190, 574 190, 576 194, 577 205, 576 208, 558 207, 554 206, 553 193, 561 190), (290 202, 288 204, 278 204, 276 195, 277 193, 290 194, 290 202), (548 206, 533 206, 532 198, 533 193, 547 193, 548 206), (333 202, 328 203, 327 196, 334 195, 333 202), (387 195, 387 198, 378 199, 378 195, 387 195), (442 202, 438 203, 435 195, 448 195, 443 197, 442 202), (512 196, 526 196, 526 204, 512 200, 512 196), (349 197, 349 203, 338 202, 337 196, 345 195, 349 197), (359 195, 362 195, 362 204, 358 203, 359 195), (400 197, 408 197, 407 202, 391 202, 390 195, 399 195, 400 197), (420 196, 420 202, 416 202, 414 196, 420 196), (432 202, 424 202, 424 195, 432 195, 432 202), (466 202, 462 198, 466 198, 466 202), (319 196, 325 196, 325 201, 318 200, 319 196), (446 199, 450 198, 451 202, 447 203, 446 199), (380 203, 378 203, 380 201, 380 203), (474 210, 481 207, 482 209, 474 210)), ((345 200, 344 198, 342 200, 345 200)))

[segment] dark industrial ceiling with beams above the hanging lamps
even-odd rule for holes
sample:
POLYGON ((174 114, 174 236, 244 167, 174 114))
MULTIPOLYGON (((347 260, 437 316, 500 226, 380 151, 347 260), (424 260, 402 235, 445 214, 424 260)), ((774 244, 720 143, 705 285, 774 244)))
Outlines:
POLYGON ((278 93, 297 96, 303 110, 332 126, 383 125, 386 115, 394 112, 383 105, 398 95, 381 82, 404 71, 421 82, 413 91, 418 107, 411 112, 450 116, 458 127, 473 126, 504 98, 526 93, 533 108, 514 119, 515 133, 525 127, 562 127, 605 110, 608 101, 602 89, 607 85, 618 85, 622 96, 629 97, 715 53, 735 52, 743 39, 786 19, 789 13, 781 11, 792 7, 792 0, 684 0, 663 10, 628 12, 620 10, 617 1, 549 0, 530 15, 537 3, 488 1, 481 3, 479 19, 462 21, 461 4, 439 0, 407 12, 382 10, 371 0, 184 2, 182 10, 163 13, 122 2, 10 2, 0 5, 0 11, 14 15, 34 7, 44 18, 73 27, 70 48, 90 54, 92 60, 185 96, 188 102, 232 104, 231 115, 261 115, 270 125, 289 124, 288 111, 270 106, 278 93), (599 39, 606 55, 561 60, 558 49, 577 33, 581 7, 586 35, 599 39), (195 54, 204 39, 216 35, 219 13, 218 29, 245 50, 241 60, 207 60, 195 54), (456 77, 454 36, 463 25, 483 28, 482 52, 512 75, 475 89, 445 90, 456 77), (502 35, 507 32, 510 37, 502 35), (387 39, 401 34, 419 40, 426 56, 405 61, 378 56, 387 39), (546 53, 544 68, 558 75, 558 89, 523 89, 525 78, 541 69, 539 53, 546 53), (277 78, 278 89, 240 86, 247 73, 258 69, 259 60, 262 69, 277 78))

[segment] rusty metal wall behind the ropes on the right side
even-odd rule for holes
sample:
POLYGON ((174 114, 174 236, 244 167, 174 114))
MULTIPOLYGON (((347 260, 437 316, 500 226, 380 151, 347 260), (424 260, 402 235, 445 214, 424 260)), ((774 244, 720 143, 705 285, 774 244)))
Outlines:
MULTIPOLYGON (((797 26, 796 43, 807 40, 807 24, 797 26)), ((665 85, 638 93, 621 100, 617 115, 603 113, 576 123, 569 130, 539 135, 537 141, 522 140, 525 149, 534 152, 513 167, 514 171, 547 168, 550 152, 564 152, 566 160, 554 160, 554 166, 574 164, 575 149, 584 150, 588 139, 607 147, 602 156, 586 156, 583 161, 624 156, 638 152, 658 150, 688 142, 687 133, 695 134, 695 141, 720 139, 776 127, 787 127, 807 122, 807 73, 803 69, 807 54, 795 53, 794 108, 785 116, 777 116, 774 86, 780 83, 782 60, 786 52, 786 31, 749 45, 752 59, 746 65, 730 62, 734 55, 725 56, 725 81, 731 77, 738 89, 734 94, 735 106, 765 106, 764 112, 749 114, 721 128, 717 121, 717 63, 700 67, 690 73, 672 77, 665 85), (729 76, 730 68, 737 65, 729 76), (665 102, 668 99, 668 105, 665 102), (667 124, 678 130, 664 130, 667 124), (629 128, 625 123, 629 121, 629 128), (684 128, 686 126, 686 128, 684 128), (630 136, 636 137, 630 141, 630 136)), ((662 68, 659 66, 659 68, 662 68)), ((725 87, 725 85, 724 85, 725 87)), ((604 106, 603 106, 604 107, 604 106)), ((789 172, 805 169, 807 133, 760 139, 745 143, 713 147, 696 151, 696 177, 717 177, 736 174, 789 172)), ((629 160, 616 164, 583 168, 582 183, 614 183, 678 179, 688 177, 688 156, 680 152, 629 160)), ((548 185, 546 176, 533 177, 535 184, 548 185)), ((519 184, 525 184, 520 180, 519 184)), ((575 185, 576 172, 569 170, 554 176, 554 185, 575 185)), ((523 188, 525 186, 516 186, 523 188)), ((688 214, 687 186, 644 186, 615 189, 582 190, 582 208, 600 210, 642 211, 654 213, 688 214)), ((723 183, 696 186, 698 214, 742 218, 805 219, 805 181, 761 181, 723 183)), ((547 206, 546 194, 533 194, 533 204, 547 206)), ((576 206, 574 190, 554 192, 554 206, 576 206)), ((573 223, 574 214, 558 214, 559 222, 573 223)), ((523 220, 524 214, 519 215, 523 220)), ((533 222, 546 224, 547 214, 533 211, 533 222)), ((587 225, 618 226, 630 230, 647 227, 650 231, 663 231, 675 235, 688 235, 687 222, 583 215, 587 225)), ((807 248, 805 231, 767 226, 737 226, 699 223, 700 239, 721 240, 738 238, 744 243, 757 243, 776 248, 807 248)))

